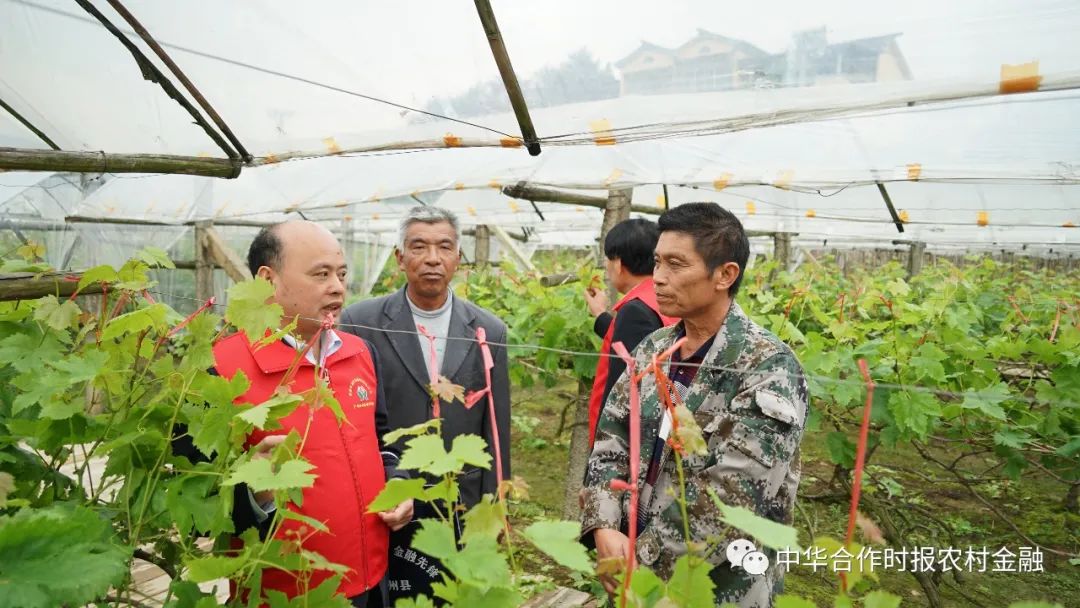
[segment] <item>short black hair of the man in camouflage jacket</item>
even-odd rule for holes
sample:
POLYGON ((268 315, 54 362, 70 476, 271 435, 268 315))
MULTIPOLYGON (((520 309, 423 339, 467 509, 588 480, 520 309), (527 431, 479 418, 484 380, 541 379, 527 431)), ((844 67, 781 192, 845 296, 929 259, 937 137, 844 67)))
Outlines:
POLYGON ((735 297, 746 260, 750 259, 750 239, 734 214, 716 203, 684 203, 664 212, 658 225, 660 232, 690 235, 693 248, 704 258, 708 272, 729 261, 738 264, 739 276, 728 287, 728 295, 735 297))

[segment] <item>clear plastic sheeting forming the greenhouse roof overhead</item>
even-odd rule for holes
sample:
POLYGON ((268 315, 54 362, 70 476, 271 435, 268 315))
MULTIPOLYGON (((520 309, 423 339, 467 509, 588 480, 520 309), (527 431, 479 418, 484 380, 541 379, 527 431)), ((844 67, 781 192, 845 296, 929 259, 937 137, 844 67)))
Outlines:
MULTIPOLYGON (((595 242, 599 210, 502 194, 518 183, 597 198, 633 188, 634 204, 658 210, 716 201, 808 246, 1080 245, 1070 0, 497 0, 539 157, 521 147, 471 2, 124 5, 256 159, 231 180, 0 174, 4 221, 167 225, 72 224, 51 238, 75 253, 50 247, 53 264, 81 260, 75 234, 134 251, 190 240, 201 219, 302 216, 379 240, 377 266, 416 204, 526 235, 526 249, 595 242)), ((0 99, 66 150, 225 154, 72 2, 0 0, 0 99)), ((49 148, 0 111, 3 146, 49 148)))

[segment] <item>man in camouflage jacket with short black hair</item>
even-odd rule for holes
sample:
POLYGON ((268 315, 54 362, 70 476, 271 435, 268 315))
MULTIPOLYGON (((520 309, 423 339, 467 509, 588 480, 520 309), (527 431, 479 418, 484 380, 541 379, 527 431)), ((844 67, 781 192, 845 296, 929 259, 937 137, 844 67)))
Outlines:
MULTIPOLYGON (((654 332, 638 346, 637 369, 678 338, 688 338, 665 370, 707 446, 704 454, 687 455, 683 461, 691 541, 705 545, 704 556, 714 566, 717 605, 769 607, 783 581, 774 552, 762 550, 770 563, 764 575, 729 564, 728 543, 746 535, 720 521, 705 489, 712 488, 726 504, 792 523, 807 416, 802 368, 786 344, 752 322, 731 299, 750 253, 739 220, 718 205, 688 203, 661 216, 659 224, 653 275, 658 301, 664 314, 683 321, 654 332), (684 379, 688 369, 692 369, 689 379, 684 379)), ((664 422, 651 375, 642 380, 640 406, 636 554, 642 565, 669 578, 687 544, 674 498, 679 492, 675 458, 672 447, 658 441, 670 423, 664 422)), ((623 374, 604 407, 582 491, 583 536, 595 540, 600 558, 630 551, 625 533, 631 495, 610 489, 612 479, 629 481, 629 440, 630 379, 623 374)), ((605 583, 612 591, 610 579, 605 583)))

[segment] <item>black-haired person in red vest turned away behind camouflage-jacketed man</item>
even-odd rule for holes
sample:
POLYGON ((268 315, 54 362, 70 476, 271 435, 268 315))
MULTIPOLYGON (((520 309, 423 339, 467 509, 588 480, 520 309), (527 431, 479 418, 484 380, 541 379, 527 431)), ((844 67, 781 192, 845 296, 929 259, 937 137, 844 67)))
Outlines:
POLYGON ((649 334, 678 321, 660 314, 652 287, 652 252, 659 238, 657 225, 647 219, 627 219, 615 225, 604 239, 605 270, 611 286, 624 295, 609 313, 604 291, 595 287, 585 289, 589 313, 596 317, 593 330, 604 338, 593 392, 589 396, 590 447, 596 436, 596 421, 600 418, 604 402, 626 368, 626 364, 611 351, 611 344, 622 342, 627 351, 632 351, 649 334))

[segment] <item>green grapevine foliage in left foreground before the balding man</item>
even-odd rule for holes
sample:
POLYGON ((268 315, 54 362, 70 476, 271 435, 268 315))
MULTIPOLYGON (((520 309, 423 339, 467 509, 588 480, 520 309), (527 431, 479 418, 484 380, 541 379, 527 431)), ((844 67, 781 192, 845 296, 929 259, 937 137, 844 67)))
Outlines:
MULTIPOLYGON (((316 472, 296 458, 296 433, 271 458, 245 452, 248 433, 280 428, 301 397, 281 391, 255 406, 233 403, 247 379, 208 368, 213 341, 237 325, 203 311, 177 333, 181 315, 144 294, 150 270, 171 266, 148 249, 120 269, 91 269, 81 287, 108 284, 81 300, 92 307, 53 296, 0 302, 0 607, 104 604, 106 594, 124 603, 136 548, 175 575, 170 605, 178 607, 217 605, 191 581, 229 576, 257 602, 264 567, 340 569, 286 550, 272 533, 265 542, 248 533, 242 552, 226 553, 234 484, 270 490, 284 505, 300 500, 316 472), (174 455, 174 433, 201 455, 174 455), (195 544, 200 536, 217 549, 195 544)), ((281 323, 280 310, 266 306, 268 287, 238 285, 229 309, 260 336, 281 323)), ((461 457, 472 458, 468 448, 461 457)), ((325 528, 278 509, 271 530, 286 518, 325 528)), ((264 599, 341 606, 336 587, 310 590, 299 604, 264 599)))

